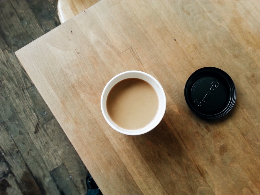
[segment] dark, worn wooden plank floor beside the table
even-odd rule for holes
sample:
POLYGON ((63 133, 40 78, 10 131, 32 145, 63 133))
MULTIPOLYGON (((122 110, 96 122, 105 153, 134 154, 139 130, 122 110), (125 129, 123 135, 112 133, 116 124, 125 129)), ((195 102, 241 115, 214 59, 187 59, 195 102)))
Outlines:
POLYGON ((86 167, 14 52, 60 25, 56 0, 0 0, 0 194, 85 194, 86 167))

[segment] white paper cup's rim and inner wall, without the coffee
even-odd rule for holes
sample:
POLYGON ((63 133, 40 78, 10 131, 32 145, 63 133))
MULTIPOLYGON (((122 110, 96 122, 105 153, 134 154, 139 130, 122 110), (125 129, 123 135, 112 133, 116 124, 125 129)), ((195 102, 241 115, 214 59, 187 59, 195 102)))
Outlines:
POLYGON ((141 72, 141 71, 130 70, 130 71, 126 71, 126 72, 116 75, 106 84, 106 86, 102 92, 102 95, 101 95, 101 110, 102 110, 102 114, 103 114, 105 120, 110 125, 110 127, 115 129, 116 131, 126 134, 126 135, 141 135, 141 134, 147 133, 148 131, 151 131, 159 124, 159 122, 161 122, 161 120, 164 116, 164 113, 165 113, 165 109, 166 109, 166 96, 165 96, 165 93, 164 93, 164 90, 163 90, 161 84, 151 75, 141 72), (159 100, 158 110, 157 110, 157 113, 156 113, 155 117, 153 118, 153 120, 145 127, 142 127, 140 129, 136 129, 136 130, 129 130, 129 129, 124 129, 122 127, 119 127, 110 118, 110 116, 107 112, 107 96, 108 96, 110 90, 116 85, 116 83, 118 83, 124 79, 129 79, 129 78, 138 78, 138 79, 142 79, 142 80, 148 82, 154 88, 155 92, 157 93, 158 100, 159 100))

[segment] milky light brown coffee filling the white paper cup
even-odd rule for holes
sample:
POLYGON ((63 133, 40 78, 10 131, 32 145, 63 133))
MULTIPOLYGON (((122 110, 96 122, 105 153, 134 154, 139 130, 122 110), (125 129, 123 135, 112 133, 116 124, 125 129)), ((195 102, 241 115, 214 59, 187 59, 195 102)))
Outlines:
POLYGON ((154 88, 142 79, 129 78, 117 83, 107 96, 110 118, 124 129, 140 129, 155 117, 159 100, 154 88))

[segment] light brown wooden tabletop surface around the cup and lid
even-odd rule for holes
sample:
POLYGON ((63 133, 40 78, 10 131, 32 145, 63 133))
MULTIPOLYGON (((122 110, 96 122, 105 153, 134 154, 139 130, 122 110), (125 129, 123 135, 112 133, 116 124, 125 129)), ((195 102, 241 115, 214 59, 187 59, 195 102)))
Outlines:
POLYGON ((102 0, 16 52, 104 194, 260 193, 260 1, 102 0), (214 66, 237 99, 218 120, 196 116, 184 86, 214 66), (166 92, 144 135, 105 122, 105 84, 126 70, 166 92))

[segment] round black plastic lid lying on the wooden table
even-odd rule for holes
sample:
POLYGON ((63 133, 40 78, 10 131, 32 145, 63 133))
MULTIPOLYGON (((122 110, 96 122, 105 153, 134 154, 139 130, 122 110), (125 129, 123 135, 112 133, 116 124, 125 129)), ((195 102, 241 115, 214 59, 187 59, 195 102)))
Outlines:
POLYGON ((196 70, 186 82, 185 100, 198 116, 220 118, 226 115, 236 100, 235 84, 223 70, 204 67, 196 70))

